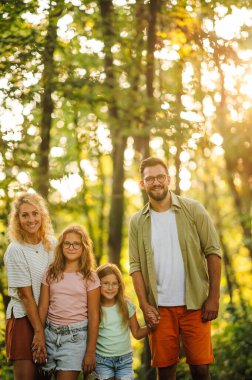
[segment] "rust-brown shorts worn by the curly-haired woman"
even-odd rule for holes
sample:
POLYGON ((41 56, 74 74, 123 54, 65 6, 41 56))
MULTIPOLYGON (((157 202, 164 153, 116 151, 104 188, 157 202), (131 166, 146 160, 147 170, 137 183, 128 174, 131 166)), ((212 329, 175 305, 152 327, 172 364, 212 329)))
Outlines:
POLYGON ((34 331, 27 317, 7 319, 5 332, 7 361, 32 360, 33 337, 34 331))

